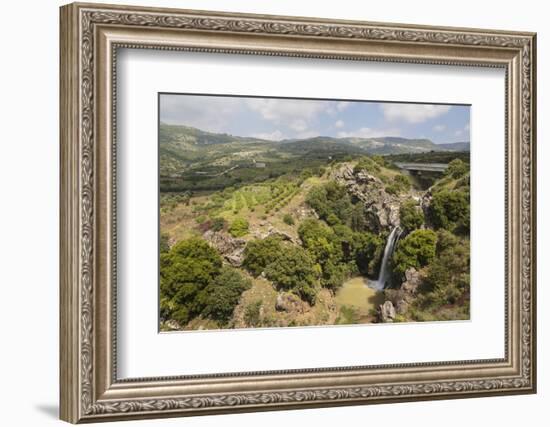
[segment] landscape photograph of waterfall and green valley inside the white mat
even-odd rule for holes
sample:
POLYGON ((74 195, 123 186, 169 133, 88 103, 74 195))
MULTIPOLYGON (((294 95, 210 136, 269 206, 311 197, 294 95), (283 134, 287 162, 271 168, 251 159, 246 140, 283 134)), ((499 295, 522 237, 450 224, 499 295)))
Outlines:
POLYGON ((469 105, 158 103, 160 331, 469 320, 469 105))

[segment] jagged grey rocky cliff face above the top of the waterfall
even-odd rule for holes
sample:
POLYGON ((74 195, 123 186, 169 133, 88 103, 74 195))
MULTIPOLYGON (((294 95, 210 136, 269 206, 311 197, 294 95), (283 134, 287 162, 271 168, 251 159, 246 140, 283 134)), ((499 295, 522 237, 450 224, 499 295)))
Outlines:
POLYGON ((336 169, 332 178, 364 204, 369 228, 373 232, 379 233, 399 226, 400 198, 386 193, 385 185, 379 178, 365 171, 354 172, 348 164, 336 169))

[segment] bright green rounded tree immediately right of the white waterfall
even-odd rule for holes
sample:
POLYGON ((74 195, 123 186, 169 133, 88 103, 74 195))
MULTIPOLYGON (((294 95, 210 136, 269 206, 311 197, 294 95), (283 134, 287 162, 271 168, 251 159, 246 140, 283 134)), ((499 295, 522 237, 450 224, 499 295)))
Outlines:
POLYGON ((392 257, 393 271, 404 276, 405 271, 426 266, 435 257, 437 235, 432 230, 415 230, 399 241, 392 257))

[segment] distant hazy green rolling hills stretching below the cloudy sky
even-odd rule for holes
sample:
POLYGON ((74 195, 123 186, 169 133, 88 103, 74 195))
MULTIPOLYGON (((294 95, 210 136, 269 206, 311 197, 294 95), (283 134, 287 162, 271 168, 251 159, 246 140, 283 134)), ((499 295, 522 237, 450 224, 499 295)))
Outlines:
POLYGON ((399 155, 468 151, 469 143, 435 144, 402 137, 266 139, 160 124, 161 191, 213 190, 319 168, 366 154, 399 155))

